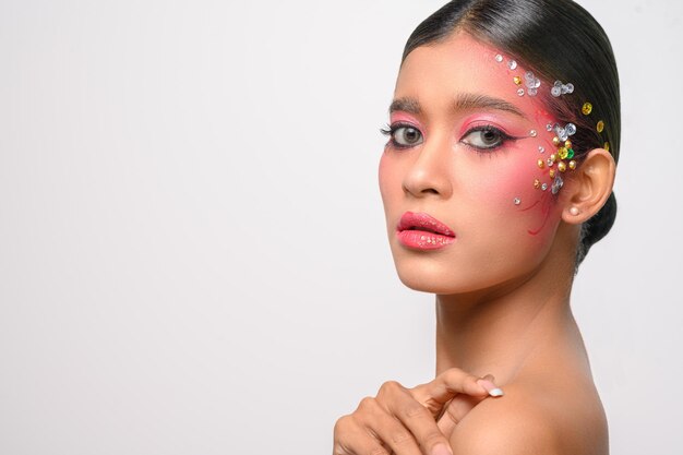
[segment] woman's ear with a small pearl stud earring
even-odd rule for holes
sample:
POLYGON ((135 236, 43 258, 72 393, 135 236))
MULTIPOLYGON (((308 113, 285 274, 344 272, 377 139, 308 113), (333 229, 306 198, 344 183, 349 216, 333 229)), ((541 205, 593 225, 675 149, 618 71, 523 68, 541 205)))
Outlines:
POLYGON ((603 148, 590 151, 564 185, 562 220, 579 225, 592 217, 612 193, 616 164, 603 148))

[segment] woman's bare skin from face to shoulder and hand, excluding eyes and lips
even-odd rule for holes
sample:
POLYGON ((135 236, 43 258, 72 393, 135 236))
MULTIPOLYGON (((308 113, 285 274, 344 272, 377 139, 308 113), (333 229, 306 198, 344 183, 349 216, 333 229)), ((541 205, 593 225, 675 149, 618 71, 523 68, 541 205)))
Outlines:
MULTIPOLYGON (((380 163, 380 190, 399 278, 435 295, 436 379, 414 388, 384 384, 337 422, 335 454, 609 452, 570 295, 579 227, 606 203, 614 160, 594 149, 563 175, 556 196, 534 188, 535 178, 552 181, 537 159, 539 145, 556 149, 544 128, 554 121, 541 96, 517 95, 512 77, 526 70, 508 70, 495 62, 498 53, 505 55, 457 33, 417 48, 402 65, 391 123, 415 130, 394 131, 380 163), (468 94, 519 112, 456 108, 468 94), (482 124, 517 139, 478 149, 482 136, 471 130, 482 124), (397 146, 406 137, 408 145, 397 146), (407 211, 446 224, 456 241, 433 251, 403 246, 396 226, 407 211), (503 397, 487 397, 493 384, 481 381, 486 374, 503 397)), ((547 82, 539 94, 543 87, 547 82)))

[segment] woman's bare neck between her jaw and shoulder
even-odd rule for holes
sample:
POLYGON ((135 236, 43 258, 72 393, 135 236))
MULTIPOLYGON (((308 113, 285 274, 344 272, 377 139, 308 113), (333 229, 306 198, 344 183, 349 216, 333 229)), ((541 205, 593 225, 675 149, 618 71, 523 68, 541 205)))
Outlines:
POLYGON ((585 356, 570 309, 572 274, 558 272, 541 267, 486 295, 438 295, 436 374, 457 367, 479 376, 493 374, 502 385, 534 358, 562 357, 567 346, 585 356))

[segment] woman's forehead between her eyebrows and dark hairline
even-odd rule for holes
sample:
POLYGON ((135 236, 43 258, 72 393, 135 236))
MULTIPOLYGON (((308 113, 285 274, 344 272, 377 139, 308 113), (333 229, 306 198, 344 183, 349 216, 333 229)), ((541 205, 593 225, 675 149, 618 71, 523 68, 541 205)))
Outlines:
MULTIPOLYGON (((431 108, 448 108, 463 94, 504 99, 531 113, 542 108, 538 97, 519 96, 514 77, 524 79, 527 69, 508 67, 505 52, 458 33, 445 41, 411 51, 398 73, 394 97, 416 98, 431 108), (496 56, 503 56, 499 62, 496 56)), ((532 117, 532 116, 531 116, 532 117)))

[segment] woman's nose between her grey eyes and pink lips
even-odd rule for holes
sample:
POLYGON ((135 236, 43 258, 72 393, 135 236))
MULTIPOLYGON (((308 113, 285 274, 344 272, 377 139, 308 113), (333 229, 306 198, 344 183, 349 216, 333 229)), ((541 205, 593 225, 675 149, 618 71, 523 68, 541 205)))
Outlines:
POLYGON ((447 139, 432 136, 424 141, 420 153, 404 176, 403 188, 415 197, 439 196, 448 199, 453 149, 447 139))

